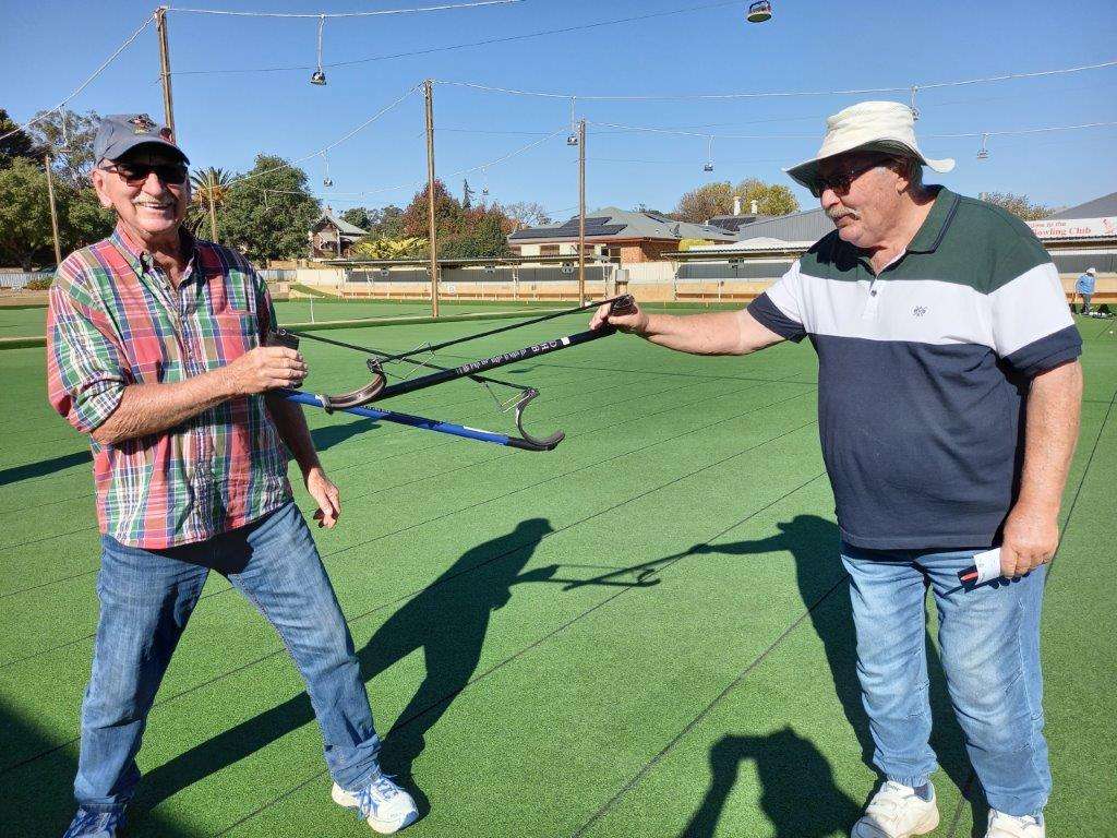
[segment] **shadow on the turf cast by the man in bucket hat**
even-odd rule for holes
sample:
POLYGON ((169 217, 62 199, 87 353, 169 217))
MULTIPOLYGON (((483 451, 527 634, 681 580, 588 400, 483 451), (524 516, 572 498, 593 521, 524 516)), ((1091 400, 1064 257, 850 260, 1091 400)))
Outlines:
MULTIPOLYGON (((818 515, 796 515, 789 522, 781 522, 779 527, 777 535, 766 539, 696 545, 691 549, 691 553, 755 555, 787 551, 794 556, 800 597, 811 608, 811 626, 822 641, 838 701, 841 703, 846 720, 857 734, 862 761, 876 770, 872 765, 873 742, 869 732, 869 718, 861 703, 861 685, 857 676, 857 634, 853 628, 848 582, 843 581, 832 593, 828 593, 836 581, 844 578, 838 558, 840 544, 838 526, 818 515), (822 602, 823 599, 827 601, 822 602)), ((946 676, 929 636, 926 638, 926 648, 933 720, 930 745, 935 750, 939 765, 955 785, 976 796, 978 792, 971 790, 975 783, 972 781, 962 730, 954 717, 954 710, 946 692, 946 676)), ((971 803, 976 816, 980 803, 974 800, 971 803)))

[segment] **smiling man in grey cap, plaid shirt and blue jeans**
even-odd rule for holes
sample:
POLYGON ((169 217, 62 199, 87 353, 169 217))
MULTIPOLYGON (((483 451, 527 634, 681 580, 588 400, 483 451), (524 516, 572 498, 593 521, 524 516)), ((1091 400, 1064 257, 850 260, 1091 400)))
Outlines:
POLYGON ((353 641, 287 480, 288 453, 337 521, 302 408, 268 396, 306 364, 265 346, 267 288, 240 254, 182 227, 187 155, 145 114, 106 117, 93 185, 113 235, 71 254, 50 289, 51 404, 92 438, 102 533, 93 673, 66 838, 114 838, 171 655, 214 569, 279 634, 306 682, 336 802, 379 832, 417 817, 379 765, 353 641))

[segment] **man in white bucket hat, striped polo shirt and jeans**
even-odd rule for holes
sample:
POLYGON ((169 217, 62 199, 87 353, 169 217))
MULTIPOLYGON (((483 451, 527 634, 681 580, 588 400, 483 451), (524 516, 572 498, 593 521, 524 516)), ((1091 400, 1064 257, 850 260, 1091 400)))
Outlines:
POLYGON ((652 343, 746 354, 809 336, 819 432, 850 577, 858 675, 885 781, 855 838, 938 823, 924 639, 929 587, 951 699, 992 810, 987 838, 1042 838, 1051 788, 1041 707, 1044 562, 1078 436, 1081 340, 1027 225, 923 183, 947 172, 911 111, 831 116, 787 173, 836 230, 745 311, 609 316, 652 343), (1002 578, 962 584, 1000 547, 1002 578))

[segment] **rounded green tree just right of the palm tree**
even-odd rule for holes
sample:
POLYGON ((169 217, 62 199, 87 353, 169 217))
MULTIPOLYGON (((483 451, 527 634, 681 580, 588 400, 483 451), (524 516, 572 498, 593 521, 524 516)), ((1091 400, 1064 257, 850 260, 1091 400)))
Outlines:
POLYGON ((257 154, 251 171, 229 187, 219 223, 222 238, 248 258, 290 259, 306 254, 307 231, 321 212, 306 172, 257 154))

